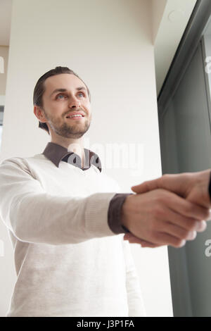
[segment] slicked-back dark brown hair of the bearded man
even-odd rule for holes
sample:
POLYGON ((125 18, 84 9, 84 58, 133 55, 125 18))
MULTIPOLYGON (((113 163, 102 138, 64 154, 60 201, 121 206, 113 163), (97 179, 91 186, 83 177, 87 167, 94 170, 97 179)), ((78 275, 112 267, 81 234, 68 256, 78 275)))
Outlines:
MULTIPOLYGON (((78 77, 79 80, 82 80, 76 73, 74 73, 74 71, 70 70, 68 67, 56 67, 55 69, 51 69, 51 70, 47 71, 46 73, 44 73, 44 75, 42 75, 39 78, 39 80, 37 80, 37 84, 34 87, 33 103, 35 106, 39 106, 39 107, 43 106, 42 96, 45 92, 45 87, 44 87, 45 80, 48 77, 60 75, 61 73, 69 73, 69 74, 72 74, 72 75, 75 75, 76 77, 78 77)), ((82 80, 82 82, 84 83, 83 80, 82 80)), ((87 85, 85 83, 84 83, 84 85, 87 87, 87 85)), ((88 96, 89 96, 89 101, 91 102, 91 94, 89 92, 88 87, 87 87, 87 92, 88 92, 88 96)), ((41 129, 46 130, 50 135, 49 127, 48 127, 48 125, 46 125, 46 123, 41 123, 39 121, 39 127, 41 127, 41 129)))

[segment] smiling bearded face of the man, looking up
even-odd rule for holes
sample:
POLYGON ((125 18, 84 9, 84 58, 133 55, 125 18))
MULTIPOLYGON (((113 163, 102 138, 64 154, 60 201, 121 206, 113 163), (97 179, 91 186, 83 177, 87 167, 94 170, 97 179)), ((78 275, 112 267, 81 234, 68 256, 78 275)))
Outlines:
POLYGON ((43 107, 34 106, 34 114, 40 122, 47 123, 51 137, 55 134, 71 139, 82 137, 91 123, 86 85, 75 75, 63 73, 47 78, 44 86, 43 107), (82 114, 82 117, 67 117, 73 113, 82 114))

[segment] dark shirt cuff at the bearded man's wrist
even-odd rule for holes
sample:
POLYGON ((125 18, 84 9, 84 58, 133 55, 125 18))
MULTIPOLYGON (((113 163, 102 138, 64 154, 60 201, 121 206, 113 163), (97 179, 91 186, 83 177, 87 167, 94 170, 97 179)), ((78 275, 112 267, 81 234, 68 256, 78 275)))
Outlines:
POLYGON ((133 193, 117 193, 110 200, 108 207, 108 225, 116 235, 120 233, 127 233, 129 230, 122 225, 122 204, 127 196, 133 193))

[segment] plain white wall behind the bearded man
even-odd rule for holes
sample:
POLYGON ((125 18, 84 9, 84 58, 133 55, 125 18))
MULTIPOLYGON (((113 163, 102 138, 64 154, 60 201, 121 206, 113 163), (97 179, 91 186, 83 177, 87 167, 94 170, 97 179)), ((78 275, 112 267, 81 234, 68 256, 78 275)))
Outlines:
MULTIPOLYGON (((84 146, 99 153, 103 163, 108 143, 137 148, 138 173, 131 168, 106 168, 122 192, 159 177, 152 39, 148 0, 13 0, 1 160, 44 150, 49 136, 38 128, 33 89, 47 70, 65 65, 91 90, 93 120, 84 146)), ((0 258, 0 309, 4 316, 15 271, 2 222, 0 233, 5 245, 5 256, 0 258)), ((172 316, 167 248, 141 249, 132 244, 132 253, 148 316, 172 316)))

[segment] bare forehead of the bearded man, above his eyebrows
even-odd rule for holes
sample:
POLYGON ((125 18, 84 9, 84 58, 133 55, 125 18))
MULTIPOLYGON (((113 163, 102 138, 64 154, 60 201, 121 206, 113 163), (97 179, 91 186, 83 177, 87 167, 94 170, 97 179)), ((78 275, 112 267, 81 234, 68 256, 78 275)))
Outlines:
POLYGON ((51 77, 48 77, 45 82, 45 90, 47 93, 53 92, 54 89, 75 89, 76 87, 85 87, 87 89, 86 85, 75 75, 69 74, 69 73, 62 73, 60 75, 54 75, 51 77))

